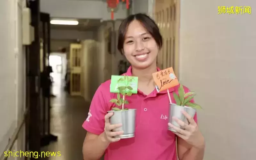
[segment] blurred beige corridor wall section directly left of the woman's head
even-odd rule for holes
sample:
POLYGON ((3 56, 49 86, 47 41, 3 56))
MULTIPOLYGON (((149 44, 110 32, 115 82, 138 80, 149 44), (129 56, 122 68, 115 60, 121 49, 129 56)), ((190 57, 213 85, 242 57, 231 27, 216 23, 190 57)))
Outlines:
POLYGON ((119 60, 125 60, 125 57, 117 50, 117 33, 120 24, 121 20, 116 20, 114 23, 103 22, 98 29, 97 38, 86 39, 82 43, 84 53, 83 96, 87 101, 92 99, 94 92, 101 83, 110 79, 111 75, 119 74, 119 60), (116 35, 112 37, 112 54, 109 54, 107 51, 108 39, 106 37, 108 28, 116 32, 116 35))

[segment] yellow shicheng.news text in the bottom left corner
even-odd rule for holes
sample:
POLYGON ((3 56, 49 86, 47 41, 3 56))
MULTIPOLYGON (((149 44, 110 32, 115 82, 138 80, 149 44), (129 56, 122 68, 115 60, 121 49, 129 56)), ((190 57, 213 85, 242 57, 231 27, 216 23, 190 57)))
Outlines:
POLYGON ((26 152, 23 152, 23 151, 5 151, 4 152, 4 156, 5 157, 30 157, 30 158, 38 158, 38 157, 49 157, 49 156, 61 156, 60 152, 40 152, 40 154, 38 152, 32 152, 32 151, 26 151, 26 152))

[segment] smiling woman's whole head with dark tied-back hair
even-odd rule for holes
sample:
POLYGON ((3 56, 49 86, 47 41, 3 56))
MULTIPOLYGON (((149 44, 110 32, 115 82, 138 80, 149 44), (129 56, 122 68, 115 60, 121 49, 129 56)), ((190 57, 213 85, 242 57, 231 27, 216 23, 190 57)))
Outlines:
POLYGON ((158 51, 163 44, 156 23, 145 16, 145 14, 130 16, 119 28, 117 48, 133 67, 147 68, 156 61, 158 51), (133 52, 135 50, 136 52, 133 52))

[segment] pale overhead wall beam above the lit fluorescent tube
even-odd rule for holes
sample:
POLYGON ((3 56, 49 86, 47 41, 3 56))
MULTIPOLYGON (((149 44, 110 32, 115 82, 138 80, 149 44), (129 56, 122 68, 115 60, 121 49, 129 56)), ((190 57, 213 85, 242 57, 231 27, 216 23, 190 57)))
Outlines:
MULTIPOLYGON (((127 10, 125 3, 120 3, 115 19, 125 18, 127 10)), ((106 1, 76 1, 76 0, 41 0, 41 12, 51 14, 51 17, 102 19, 110 20, 111 13, 108 11, 106 1)))

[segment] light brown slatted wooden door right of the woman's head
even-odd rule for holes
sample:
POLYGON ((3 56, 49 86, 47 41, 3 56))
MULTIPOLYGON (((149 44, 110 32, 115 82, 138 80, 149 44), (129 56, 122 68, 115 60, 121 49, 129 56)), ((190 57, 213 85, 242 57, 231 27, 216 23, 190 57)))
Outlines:
POLYGON ((161 69, 172 67, 179 77, 180 0, 156 0, 154 17, 163 36, 157 64, 161 69))

